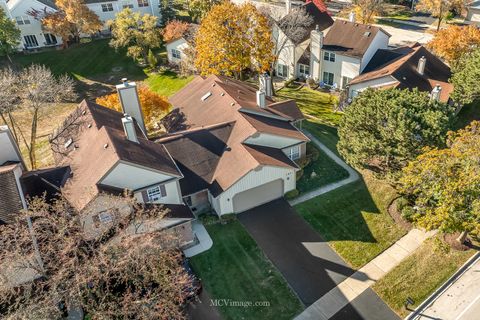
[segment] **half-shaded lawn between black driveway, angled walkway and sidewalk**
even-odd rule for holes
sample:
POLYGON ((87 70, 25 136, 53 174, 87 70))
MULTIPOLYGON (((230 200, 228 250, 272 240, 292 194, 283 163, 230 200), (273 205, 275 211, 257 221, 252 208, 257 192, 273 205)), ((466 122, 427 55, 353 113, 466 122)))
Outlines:
POLYGON ((363 181, 295 206, 354 268, 360 268, 405 234, 387 212, 397 195, 395 189, 371 174, 364 173, 363 177, 363 181))

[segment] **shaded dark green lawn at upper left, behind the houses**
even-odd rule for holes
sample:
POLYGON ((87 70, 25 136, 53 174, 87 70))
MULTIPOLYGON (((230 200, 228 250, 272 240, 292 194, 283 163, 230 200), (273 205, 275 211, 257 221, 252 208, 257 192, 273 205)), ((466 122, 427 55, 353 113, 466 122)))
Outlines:
POLYGON ((17 54, 15 63, 25 67, 32 63, 43 64, 55 74, 70 74, 76 79, 91 79, 111 74, 128 75, 129 78, 146 77, 142 68, 137 66, 125 50, 112 49, 108 39, 95 40, 85 44, 73 45, 65 50, 47 50, 35 54, 17 54))

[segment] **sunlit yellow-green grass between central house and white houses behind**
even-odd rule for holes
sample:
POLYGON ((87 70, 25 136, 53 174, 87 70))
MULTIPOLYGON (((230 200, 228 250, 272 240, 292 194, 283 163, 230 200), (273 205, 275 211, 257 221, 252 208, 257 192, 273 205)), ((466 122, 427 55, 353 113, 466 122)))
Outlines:
POLYGON ((306 86, 301 89, 285 87, 277 91, 277 97, 280 99, 294 99, 307 118, 313 118, 328 125, 338 125, 342 117, 341 112, 333 111, 334 102, 337 100, 336 97, 328 93, 312 90, 306 86))

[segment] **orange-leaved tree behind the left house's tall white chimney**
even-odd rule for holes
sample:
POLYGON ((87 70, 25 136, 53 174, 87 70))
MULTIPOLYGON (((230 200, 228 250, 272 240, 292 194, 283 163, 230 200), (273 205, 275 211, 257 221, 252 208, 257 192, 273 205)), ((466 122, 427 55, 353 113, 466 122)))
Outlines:
MULTIPOLYGON (((168 99, 156 92, 151 91, 147 86, 138 87, 138 98, 142 107, 145 125, 147 129, 155 129, 155 124, 168 112, 170 104, 168 99)), ((122 111, 122 105, 117 93, 105 95, 96 99, 99 105, 122 111)))

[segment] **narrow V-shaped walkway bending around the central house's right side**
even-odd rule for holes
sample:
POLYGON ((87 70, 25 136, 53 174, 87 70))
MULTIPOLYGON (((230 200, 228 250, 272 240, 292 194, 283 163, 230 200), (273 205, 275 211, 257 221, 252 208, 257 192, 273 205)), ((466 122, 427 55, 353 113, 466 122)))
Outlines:
POLYGON ((330 149, 328 149, 327 146, 325 146, 323 143, 320 142, 317 138, 315 138, 310 132, 307 130, 303 129, 303 133, 319 148, 321 149, 328 157, 330 157, 335 163, 337 163, 339 166, 341 166, 343 169, 347 170, 348 172, 348 178, 327 184, 324 187, 312 190, 310 192, 307 192, 293 200, 290 200, 289 203, 291 206, 294 206, 296 204, 305 202, 307 200, 313 199, 315 197, 318 197, 319 195, 322 195, 324 193, 330 192, 332 190, 335 190, 337 188, 340 188, 346 184, 349 184, 351 182, 354 182, 358 180, 359 175, 358 173, 353 170, 349 165, 347 165, 342 159, 340 159, 339 156, 337 156, 335 153, 333 153, 330 149))

